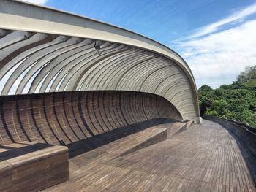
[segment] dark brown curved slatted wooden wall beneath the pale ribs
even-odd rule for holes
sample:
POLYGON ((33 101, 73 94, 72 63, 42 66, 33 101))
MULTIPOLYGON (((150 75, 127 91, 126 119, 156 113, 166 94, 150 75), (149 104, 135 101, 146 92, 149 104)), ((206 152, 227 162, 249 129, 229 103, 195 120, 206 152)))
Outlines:
POLYGON ((147 120, 182 120, 163 97, 132 91, 1 96, 0 116, 0 144, 69 144, 147 120))

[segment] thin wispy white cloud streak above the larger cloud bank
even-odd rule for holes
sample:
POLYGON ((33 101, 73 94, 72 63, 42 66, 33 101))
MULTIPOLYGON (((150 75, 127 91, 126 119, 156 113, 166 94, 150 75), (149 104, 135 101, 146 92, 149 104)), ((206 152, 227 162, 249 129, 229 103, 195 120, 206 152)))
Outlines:
POLYGON ((218 20, 216 23, 211 23, 208 26, 204 26, 202 28, 198 28, 195 33, 193 33, 191 36, 188 37, 188 39, 192 39, 195 37, 201 37, 206 34, 211 34, 214 31, 217 31, 221 26, 224 26, 225 24, 232 24, 234 22, 241 23, 244 18, 246 18, 249 15, 252 15, 256 12, 256 3, 252 4, 249 7, 246 7, 245 9, 242 9, 238 12, 234 12, 233 14, 229 15, 227 18, 223 18, 222 20, 218 20))

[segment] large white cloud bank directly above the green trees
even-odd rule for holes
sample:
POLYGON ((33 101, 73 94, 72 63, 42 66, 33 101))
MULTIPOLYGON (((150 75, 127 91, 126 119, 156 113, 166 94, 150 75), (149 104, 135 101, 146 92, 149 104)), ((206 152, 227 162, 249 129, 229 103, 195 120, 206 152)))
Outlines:
POLYGON ((256 65, 256 20, 216 34, 176 44, 193 74, 197 86, 216 88, 236 80, 245 66, 256 65))

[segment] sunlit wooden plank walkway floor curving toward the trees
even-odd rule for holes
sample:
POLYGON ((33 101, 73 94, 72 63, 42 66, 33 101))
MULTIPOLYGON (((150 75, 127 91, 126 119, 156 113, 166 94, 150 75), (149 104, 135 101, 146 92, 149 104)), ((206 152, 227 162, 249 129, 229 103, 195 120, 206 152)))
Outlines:
MULTIPOLYGON (((119 148, 129 145, 122 139, 119 148)), ((240 147, 225 128, 205 120, 133 153, 102 153, 46 191, 255 191, 240 147)), ((86 153, 71 158, 71 165, 78 158, 86 153)))

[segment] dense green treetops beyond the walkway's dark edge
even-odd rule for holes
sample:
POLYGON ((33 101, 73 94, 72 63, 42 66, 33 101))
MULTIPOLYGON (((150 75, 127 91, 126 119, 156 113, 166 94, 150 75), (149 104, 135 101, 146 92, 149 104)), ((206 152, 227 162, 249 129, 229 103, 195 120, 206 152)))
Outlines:
POLYGON ((198 90, 200 114, 238 120, 256 126, 256 66, 246 67, 236 82, 198 90))

